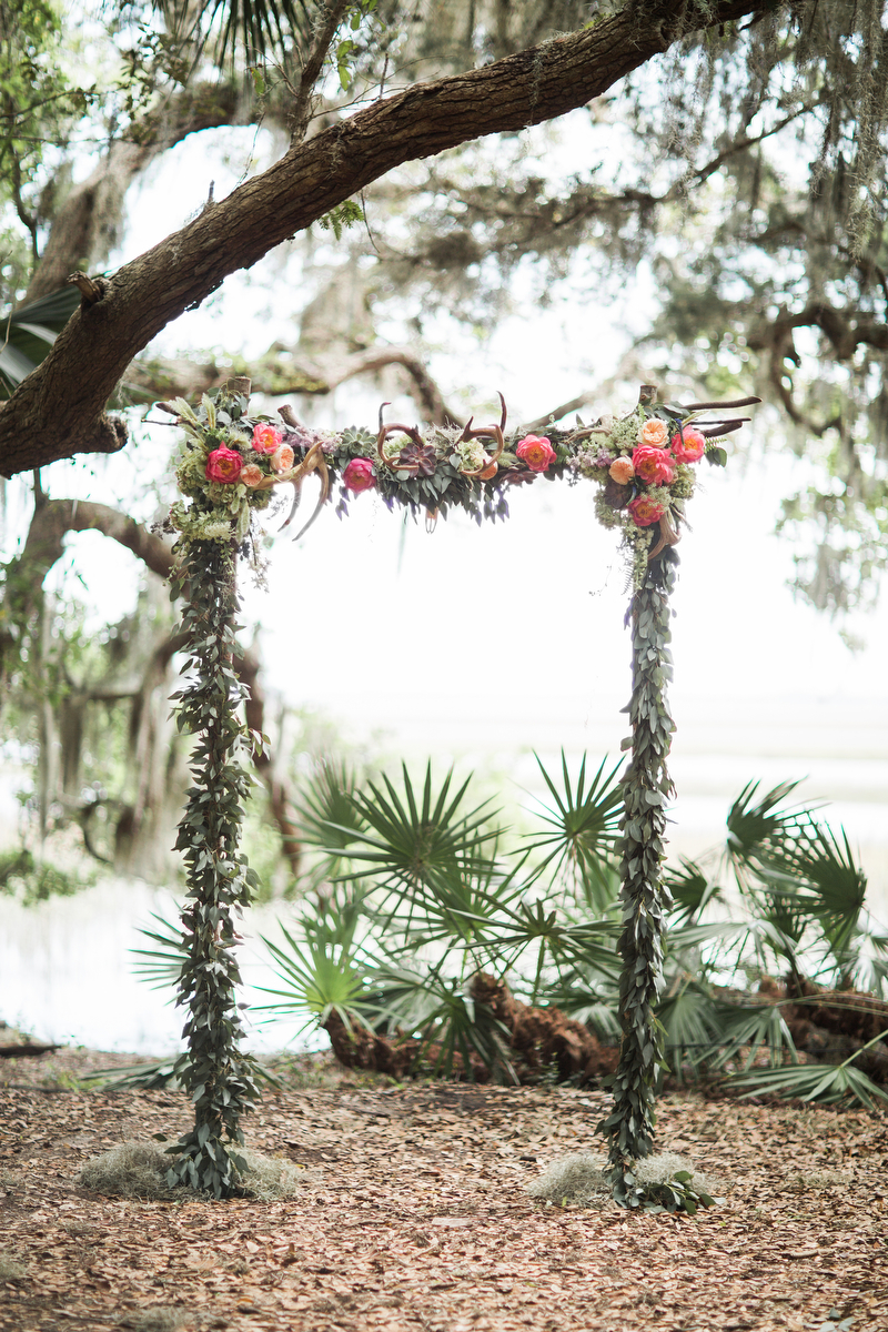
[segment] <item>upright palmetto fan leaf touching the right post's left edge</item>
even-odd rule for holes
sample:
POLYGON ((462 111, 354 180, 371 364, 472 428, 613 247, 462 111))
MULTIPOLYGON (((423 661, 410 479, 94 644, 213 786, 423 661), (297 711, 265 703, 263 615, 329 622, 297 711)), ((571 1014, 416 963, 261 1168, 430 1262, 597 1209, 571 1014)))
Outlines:
POLYGON ((555 802, 554 807, 545 805, 545 813, 539 814, 550 831, 533 832, 529 838, 529 850, 543 852, 537 872, 541 875, 549 870, 553 880, 564 874, 578 880, 588 906, 603 914, 612 906, 619 887, 610 858, 619 838, 623 810, 623 793, 616 778, 620 765, 616 763, 606 774, 604 759, 587 789, 584 754, 575 785, 563 750, 560 782, 550 777, 538 754, 534 758, 555 802))

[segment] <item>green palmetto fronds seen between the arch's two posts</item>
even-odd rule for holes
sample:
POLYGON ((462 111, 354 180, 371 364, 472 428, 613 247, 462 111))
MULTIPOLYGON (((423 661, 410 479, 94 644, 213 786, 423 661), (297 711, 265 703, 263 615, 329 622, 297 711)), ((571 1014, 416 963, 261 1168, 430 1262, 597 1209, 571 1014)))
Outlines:
MULTIPOLYGON (((588 867, 610 844, 602 827, 614 774, 598 781, 594 799, 586 793, 578 802, 583 773, 584 761, 574 785, 563 765, 564 789, 546 777, 556 803, 543 840, 530 834, 517 854, 503 854, 506 830, 489 802, 470 802, 469 782, 454 791, 447 774, 435 785, 429 765, 419 787, 402 767, 399 786, 383 778, 361 789, 347 769, 322 769, 302 807, 302 836, 328 856, 312 883, 334 879, 338 887, 320 918, 304 915, 298 931, 284 930, 284 946, 266 940, 281 979, 269 1011, 322 1022, 335 1008, 343 1019, 418 1039, 418 1071, 450 1075, 479 1058, 506 1082, 515 1072, 503 1028, 471 994, 478 972, 507 975, 517 994, 542 1003, 579 978, 584 998, 607 1011, 615 923, 590 919, 582 879, 562 875, 551 854, 560 835, 582 846, 588 867), (588 817, 578 831, 578 803, 588 815, 594 801, 602 819, 588 817), (542 864, 531 858, 538 848, 542 864)), ((599 871, 604 882, 603 863, 599 871)))

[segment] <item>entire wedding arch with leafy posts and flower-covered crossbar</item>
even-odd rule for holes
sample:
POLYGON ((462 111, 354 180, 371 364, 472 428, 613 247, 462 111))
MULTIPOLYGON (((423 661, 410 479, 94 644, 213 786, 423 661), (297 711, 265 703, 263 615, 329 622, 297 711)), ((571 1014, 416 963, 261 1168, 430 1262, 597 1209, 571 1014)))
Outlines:
MULTIPOLYGON (((670 606, 678 555, 675 545, 684 521, 686 501, 696 484, 695 464, 702 458, 724 466, 722 437, 743 420, 702 424, 699 412, 734 409, 758 402, 658 402, 646 386, 638 406, 620 420, 600 417, 574 430, 550 429, 546 436, 513 437, 506 446, 506 404, 501 421, 463 429, 385 425, 370 432, 349 428, 322 433, 301 425, 289 408, 280 416, 286 429, 268 417, 246 414, 249 381, 204 394, 197 410, 182 398, 162 406, 178 417, 185 444, 176 466, 184 500, 174 503, 166 523, 178 533, 180 590, 186 595, 182 626, 188 633, 189 685, 178 698, 178 725, 198 737, 192 757, 194 786, 180 823, 177 848, 188 868, 188 900, 182 912, 188 952, 178 978, 178 1003, 189 1007, 185 1026, 188 1051, 176 1066, 180 1082, 194 1102, 194 1128, 170 1151, 176 1152, 170 1183, 186 1183, 217 1197, 237 1191, 244 1160, 241 1116, 256 1095, 253 1063, 238 1050, 242 1035, 236 1003, 240 982, 233 947, 233 916, 250 900, 254 876, 238 852, 244 819, 242 801, 250 779, 238 762, 245 743, 261 743, 238 721, 244 691, 232 655, 237 614, 236 558, 250 555, 258 569, 254 517, 268 507, 277 485, 292 482, 300 500, 305 477, 317 470, 320 513, 333 486, 338 486, 337 513, 349 501, 378 490, 385 503, 414 515, 438 515, 459 506, 478 522, 509 513, 507 488, 537 482, 539 477, 568 481, 590 478, 599 485, 595 511, 607 527, 622 533, 634 587, 632 698, 630 702, 631 762, 623 777, 622 819, 623 932, 619 950, 620 1022, 623 1040, 614 1078, 614 1106, 599 1124, 610 1143, 614 1197, 623 1205, 660 1205, 636 1183, 632 1164, 652 1146, 654 1086, 662 1067, 662 1043, 654 1003, 662 984, 663 926, 670 898, 662 882, 666 802, 674 794, 666 767, 674 723, 666 706, 671 677, 670 606), (406 436, 394 438, 394 436, 406 436)), ((300 533, 301 534, 301 533, 300 533)), ((694 1211, 698 1197, 690 1185, 674 1188, 670 1205, 694 1211)))

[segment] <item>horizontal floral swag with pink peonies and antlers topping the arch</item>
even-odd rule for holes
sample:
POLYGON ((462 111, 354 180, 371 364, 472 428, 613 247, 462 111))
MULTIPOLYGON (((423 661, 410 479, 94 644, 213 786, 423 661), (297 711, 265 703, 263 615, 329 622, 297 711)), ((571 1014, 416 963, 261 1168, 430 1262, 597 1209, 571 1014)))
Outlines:
POLYGON ((748 417, 723 413, 759 398, 692 402, 682 406, 656 401, 656 389, 642 388, 639 404, 620 418, 602 416, 591 425, 579 417, 572 430, 551 426, 545 436, 515 432, 506 440, 506 402, 494 425, 465 428, 379 425, 375 434, 359 426, 322 432, 302 425, 292 408, 280 408, 282 425, 266 416, 248 416, 245 393, 225 385, 216 398, 204 394, 193 410, 184 398, 162 406, 178 417, 185 432, 176 477, 190 501, 173 505, 169 525, 186 541, 241 545, 253 514, 268 507, 274 488, 294 486, 286 527, 300 502, 305 478, 317 472, 321 493, 314 513, 297 539, 314 522, 324 503, 338 492, 339 517, 359 494, 375 490, 383 503, 425 510, 434 527, 439 515, 459 507, 478 523, 509 515, 506 496, 515 485, 539 478, 588 478, 598 484, 595 513, 606 527, 622 533, 632 585, 638 589, 651 559, 680 539, 684 505, 696 485, 696 466, 724 466, 724 437, 748 417), (722 416, 702 420, 700 413, 722 416))

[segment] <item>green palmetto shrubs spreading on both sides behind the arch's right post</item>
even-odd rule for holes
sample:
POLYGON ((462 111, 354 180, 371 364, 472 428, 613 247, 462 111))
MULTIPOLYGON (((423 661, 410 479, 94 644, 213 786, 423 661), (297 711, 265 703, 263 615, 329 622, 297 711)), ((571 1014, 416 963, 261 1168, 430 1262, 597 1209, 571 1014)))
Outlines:
MULTIPOLYGON (((431 765, 421 786, 406 767, 398 785, 363 786, 325 769, 302 818, 324 911, 265 940, 280 978, 268 1014, 301 1011, 337 1054, 371 1067, 385 1067, 374 1050, 399 1050, 387 1067, 397 1076, 564 1076, 560 1059, 541 1070, 539 1046, 530 1060, 514 1048, 491 983, 615 1044, 616 769, 590 781, 583 759, 574 779, 562 755, 560 773, 541 771, 547 803, 518 835, 471 803, 469 782, 454 790, 449 774, 435 787, 431 765)), ((844 831, 787 806, 795 785, 760 794, 750 783, 722 846, 667 870, 675 907, 656 1012, 667 1062, 679 1079, 728 1070, 746 1094, 872 1104, 888 1082, 888 936, 844 831), (820 1048, 811 1032, 829 1027, 827 1015, 837 1039, 820 1048), (800 1035, 820 1058, 841 1058, 803 1062, 800 1035), (763 1054, 767 1067, 754 1067, 763 1054)), ((567 1075, 584 1071, 574 1062, 567 1075)))

